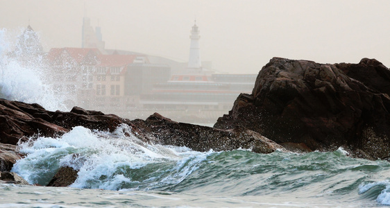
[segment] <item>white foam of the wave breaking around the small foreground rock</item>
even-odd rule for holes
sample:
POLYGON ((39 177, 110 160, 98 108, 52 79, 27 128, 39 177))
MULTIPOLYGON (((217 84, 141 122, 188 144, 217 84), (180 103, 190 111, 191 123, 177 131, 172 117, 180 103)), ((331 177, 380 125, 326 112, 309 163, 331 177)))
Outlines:
MULTIPOLYGON (((173 167, 167 170, 172 174, 164 176, 160 182, 177 184, 212 153, 146 144, 134 136, 126 137, 125 132, 131 135, 127 125, 121 125, 112 133, 77 126, 59 138, 31 139, 19 144, 20 151, 28 155, 17 161, 12 171, 31 184, 44 184, 60 166, 71 166, 79 170, 78 178, 71 187, 117 190, 122 184, 133 182, 131 177, 126 176, 128 171, 152 163, 173 162, 173 167)), ((154 186, 152 182, 145 189, 153 189, 154 186)))

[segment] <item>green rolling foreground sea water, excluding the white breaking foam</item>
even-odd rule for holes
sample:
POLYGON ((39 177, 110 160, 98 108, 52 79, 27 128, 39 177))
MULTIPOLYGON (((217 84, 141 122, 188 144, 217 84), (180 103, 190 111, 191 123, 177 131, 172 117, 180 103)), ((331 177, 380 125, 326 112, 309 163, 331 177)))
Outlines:
MULTIPOLYGON (((385 202, 378 202, 378 196, 385 192, 387 200, 390 196, 389 162, 353 159, 340 151, 262 155, 235 150, 209 153, 203 159, 191 157, 137 169, 121 168, 123 172, 115 174, 123 174, 130 182, 122 182, 115 188, 119 191, 3 185, 1 204, 3 207, 386 207, 385 202), (364 191, 364 186, 372 187, 364 191)), ((85 188, 97 188, 93 186, 96 182, 90 181, 85 188)))

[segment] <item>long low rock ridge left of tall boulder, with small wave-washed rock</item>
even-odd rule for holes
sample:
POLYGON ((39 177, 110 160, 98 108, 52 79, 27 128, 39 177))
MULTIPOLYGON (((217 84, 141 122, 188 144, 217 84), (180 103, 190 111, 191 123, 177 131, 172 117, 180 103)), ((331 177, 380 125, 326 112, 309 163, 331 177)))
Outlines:
MULTIPOLYGON (((150 144, 187 146, 198 151, 251 148, 256 153, 272 153, 276 149, 283 149, 259 133, 243 128, 217 130, 201 125, 178 123, 160 114, 153 114, 146 121, 130 121, 113 114, 83 110, 80 107, 74 107, 71 112, 51 112, 37 104, 0 99, 0 171, 11 170, 17 159, 22 157, 17 153, 15 145, 27 141, 28 138, 60 137, 78 125, 112 132, 122 123, 131 127, 133 135, 150 144)), ((51 183, 53 186, 69 184, 75 179, 66 176, 71 173, 69 168, 61 170, 65 171, 56 176, 56 180, 51 183)), ((77 171, 72 173, 74 175, 77 171)))

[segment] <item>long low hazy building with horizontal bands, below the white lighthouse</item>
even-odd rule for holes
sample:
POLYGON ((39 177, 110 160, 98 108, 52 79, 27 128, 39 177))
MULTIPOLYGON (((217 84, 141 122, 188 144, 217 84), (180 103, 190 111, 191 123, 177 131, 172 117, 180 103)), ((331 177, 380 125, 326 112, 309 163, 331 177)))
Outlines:
POLYGON ((201 111, 226 112, 240 93, 251 94, 256 77, 255 74, 172 76, 168 83, 155 85, 152 94, 143 94, 140 103, 150 110, 187 110, 200 117, 201 111))

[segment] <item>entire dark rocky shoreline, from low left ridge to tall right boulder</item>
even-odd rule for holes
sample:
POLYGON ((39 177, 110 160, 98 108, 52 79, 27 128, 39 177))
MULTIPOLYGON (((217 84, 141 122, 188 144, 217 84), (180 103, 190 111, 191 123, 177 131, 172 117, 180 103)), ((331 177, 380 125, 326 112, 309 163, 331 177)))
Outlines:
MULTIPOLYGON (((257 76, 252 94, 241 94, 214 128, 171 121, 158 113, 130 121, 80 107, 51 112, 37 104, 0 99, 0 171, 8 175, 24 157, 17 151, 20 142, 60 137, 78 125, 112 132, 126 124, 149 144, 197 151, 304 153, 341 146, 351 157, 390 161, 389 95, 390 70, 377 60, 318 64, 273 58, 257 76)), ((49 185, 69 186, 76 175, 77 170, 62 167, 49 185)))

